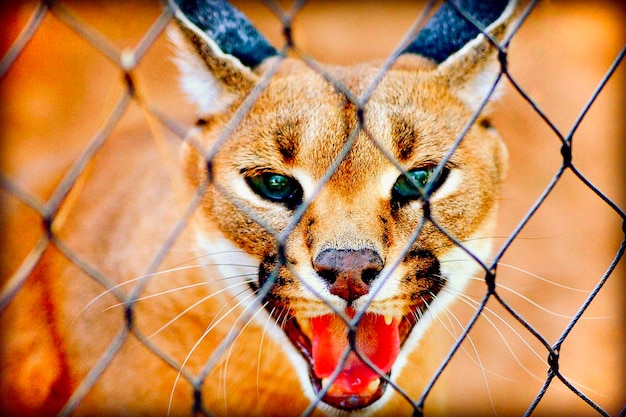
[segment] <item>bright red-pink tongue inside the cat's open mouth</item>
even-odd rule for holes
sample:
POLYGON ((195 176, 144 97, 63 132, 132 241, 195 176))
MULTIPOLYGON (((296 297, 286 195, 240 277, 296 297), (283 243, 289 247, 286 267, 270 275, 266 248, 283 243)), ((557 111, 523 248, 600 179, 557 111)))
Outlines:
MULTIPOLYGON (((346 311, 352 317, 353 311, 346 311)), ((318 378, 327 378, 340 365, 341 358, 348 348, 348 326, 336 314, 318 316, 311 319, 313 331, 313 371, 318 378)), ((365 314, 356 334, 356 349, 367 357, 381 372, 387 373, 400 351, 398 320, 386 324, 384 317, 365 314)), ((368 385, 380 378, 354 352, 350 352, 341 368, 330 392, 333 395, 359 395, 368 385)))

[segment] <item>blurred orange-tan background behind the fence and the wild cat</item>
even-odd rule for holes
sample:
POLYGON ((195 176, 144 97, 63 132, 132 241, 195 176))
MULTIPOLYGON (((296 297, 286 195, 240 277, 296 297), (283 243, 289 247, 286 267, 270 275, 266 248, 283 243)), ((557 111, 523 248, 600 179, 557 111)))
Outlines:
MULTIPOLYGON (((261 2, 236 1, 276 46, 280 21, 261 2)), ((62 1, 72 15, 114 48, 133 49, 161 13, 156 1, 62 1)), ((0 6, 4 55, 36 4, 0 6)), ((294 21, 298 48, 322 62, 351 64, 388 56, 409 30, 424 2, 311 1, 294 21)), ((620 1, 545 1, 530 14, 510 47, 510 73, 556 128, 567 134, 620 50, 626 45, 626 9, 620 1)), ((194 110, 177 88, 171 46, 162 33, 134 75, 141 96, 187 127, 194 110)), ((622 62, 574 135, 573 162, 616 205, 626 208, 626 63, 622 62)), ((530 105, 504 81, 494 125, 507 142, 510 172, 501 202, 497 244, 501 245, 561 166, 561 143, 530 105)), ((34 37, 0 79, 1 173, 39 198, 50 190, 101 127, 126 85, 122 71, 97 48, 48 13, 34 37)), ((144 114, 133 105, 116 135, 150 134, 144 114)), ((5 191, 0 191, 5 193, 5 191)), ((7 197, 5 195, 4 197, 7 197)), ((4 243, 20 203, 3 206, 4 243)), ((610 265, 624 239, 621 219, 566 171, 506 252, 498 269, 499 293, 549 343, 610 265)), ((38 225, 20 225, 19 239, 35 242, 38 225)), ((8 243, 7 243, 8 244, 8 243)), ((26 253, 7 247, 5 271, 26 253)), ((7 277, 1 277, 4 281, 7 277)), ((624 262, 608 279, 583 319, 563 344, 561 372, 607 412, 626 404, 624 262)), ((484 285, 472 284, 475 299, 484 285)), ((493 300, 444 374, 450 413, 523 414, 545 380, 545 349, 493 300), (493 326, 492 324, 493 323, 493 326), (475 350, 474 350, 475 349, 475 350), (477 355, 483 372, 477 364, 477 355)), ((453 310, 461 323, 472 313, 453 310)), ((445 319, 453 332, 459 325, 445 319)), ((445 332, 445 330, 442 330, 445 332)), ((450 345, 453 338, 448 336, 450 345)), ((442 355, 449 347, 442 348, 442 355)), ((428 401, 426 402, 428 407, 428 401)), ((428 408, 426 409, 428 411, 428 408)), ((536 415, 593 415, 580 398, 553 381, 536 415)))

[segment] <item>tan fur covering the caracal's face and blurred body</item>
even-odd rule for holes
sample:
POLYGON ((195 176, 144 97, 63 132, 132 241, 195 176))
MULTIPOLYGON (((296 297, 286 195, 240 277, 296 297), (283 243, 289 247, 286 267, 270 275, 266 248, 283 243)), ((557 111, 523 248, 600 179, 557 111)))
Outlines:
MULTIPOLYGON (((249 260, 253 264, 247 269, 233 270, 256 274, 259 264, 276 267, 280 251, 275 235, 289 229, 281 242, 288 265, 278 268, 270 291, 277 308, 302 322, 327 314, 328 304, 342 310, 345 304, 325 290, 314 276, 311 262, 324 249, 367 248, 380 254, 385 265, 399 262, 389 271, 388 281, 376 287, 379 290, 368 301, 368 311, 395 317, 409 314, 419 302, 417 295, 435 285, 428 271, 440 262, 454 264, 463 252, 428 221, 411 243, 413 231, 423 220, 422 204, 414 201, 394 207, 391 187, 401 175, 398 167, 408 170, 443 160, 472 117, 476 103, 484 98, 468 101, 468 95, 475 93, 471 84, 488 68, 495 68, 489 74, 497 74, 493 49, 482 39, 441 66, 417 56, 400 57, 372 93, 359 120, 356 106, 302 61, 286 58, 277 62, 274 58, 253 74, 228 59, 215 58, 215 51, 203 45, 197 34, 183 31, 191 44, 179 46, 201 55, 228 93, 224 102, 228 106, 224 111, 200 114, 205 123, 194 129, 183 146, 184 179, 174 181, 174 189, 168 187, 170 179, 158 168, 160 156, 142 140, 133 142, 132 149, 122 143, 107 145, 94 160, 87 186, 74 203, 91 209, 81 216, 70 215, 58 229, 63 242, 112 285, 121 285, 116 291, 128 295, 134 284, 125 283, 146 273, 158 242, 165 240, 180 218, 181 207, 209 180, 208 156, 211 177, 200 208, 159 270, 185 265, 192 257, 189 248, 204 256, 207 249, 203 244, 217 248, 222 247, 220 242, 227 242, 225 247, 246 255, 209 253, 214 262, 229 270, 231 259, 249 260), (274 65, 278 65, 276 73, 250 111, 230 136, 222 138, 254 83, 274 65), (336 172, 318 189, 344 144, 352 139, 354 143, 336 172), (107 174, 124 172, 128 166, 133 166, 132 176, 107 174), (310 205, 297 222, 293 222, 292 211, 264 201, 247 188, 242 175, 255 172, 276 172, 300 180, 304 200, 310 205), (187 194, 181 201, 175 196, 182 189, 187 194), (126 253, 126 247, 144 247, 145 252, 126 253)), ((503 31, 497 30, 500 38, 503 31)), ((369 63, 325 70, 360 97, 380 68, 381 63, 369 63)), ((447 163, 458 182, 453 183, 451 174, 430 203, 437 224, 480 256, 486 256, 484 238, 493 234, 507 163, 497 134, 480 123, 484 117, 482 114, 470 128, 447 163)), ((473 262, 461 260, 459 268, 467 263, 473 262)), ((480 268, 474 264, 469 270, 480 268)), ((203 406, 216 415, 300 414, 310 403, 305 395, 310 387, 296 372, 298 365, 285 359, 282 349, 293 348, 285 346, 288 342, 280 335, 269 337, 280 330, 259 305, 251 304, 251 297, 245 299, 244 290, 250 291, 246 284, 224 290, 237 282, 230 278, 211 262, 152 276, 145 281, 141 297, 188 288, 139 301, 133 309, 134 328, 141 337, 154 333, 149 342, 177 363, 184 363, 188 375, 198 374, 224 339, 241 332, 232 348, 227 347, 216 359, 217 365, 204 381, 203 406), (243 302, 237 305, 239 301, 243 302), (161 330, 195 303, 197 306, 161 330), (233 312, 226 314, 231 308, 233 312), (240 320, 242 314, 252 317, 240 320), (250 325, 246 325, 248 320, 250 325), (208 327, 211 331, 204 337, 208 327), (261 364, 257 366, 257 362, 261 364)), ((59 250, 51 247, 46 251, 2 318, 3 338, 12 340, 2 355, 3 411, 55 414, 110 348, 116 334, 128 332, 124 307, 118 305, 113 292, 103 295, 103 291, 59 250), (33 325, 23 323, 25 315, 33 325), (33 392, 33 381, 39 392, 33 392)), ((365 298, 354 306, 364 305, 365 298)), ((416 345, 415 341, 411 344, 416 345)), ((427 345, 417 346, 404 370, 392 374, 397 385, 412 396, 419 394, 430 377, 422 371, 429 355, 427 345)), ((77 414, 165 415, 170 408, 171 415, 188 415, 192 389, 184 377, 176 382, 177 373, 131 332, 81 401, 77 414)), ((381 400, 385 413, 406 413, 409 405, 393 388, 387 391, 390 398, 381 400)), ((373 411, 376 407, 378 404, 373 411)))

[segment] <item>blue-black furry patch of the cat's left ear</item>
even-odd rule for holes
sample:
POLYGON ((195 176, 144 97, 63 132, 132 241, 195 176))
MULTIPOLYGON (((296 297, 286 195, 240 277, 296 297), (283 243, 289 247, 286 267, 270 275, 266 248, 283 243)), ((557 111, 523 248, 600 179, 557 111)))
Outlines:
POLYGON ((213 39, 225 54, 249 68, 277 55, 246 16, 225 0, 174 0, 182 13, 213 39))

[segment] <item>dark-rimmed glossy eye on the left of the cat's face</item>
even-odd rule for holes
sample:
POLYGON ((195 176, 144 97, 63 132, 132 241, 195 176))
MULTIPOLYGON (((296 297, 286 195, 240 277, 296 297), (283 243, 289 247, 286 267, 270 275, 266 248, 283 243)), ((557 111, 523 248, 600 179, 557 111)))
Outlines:
POLYGON ((302 186, 292 177, 276 172, 261 172, 245 178, 250 189, 265 200, 284 204, 288 209, 294 209, 302 203, 302 186))

